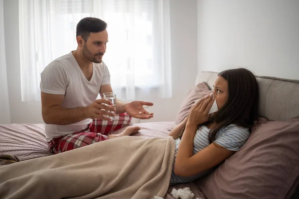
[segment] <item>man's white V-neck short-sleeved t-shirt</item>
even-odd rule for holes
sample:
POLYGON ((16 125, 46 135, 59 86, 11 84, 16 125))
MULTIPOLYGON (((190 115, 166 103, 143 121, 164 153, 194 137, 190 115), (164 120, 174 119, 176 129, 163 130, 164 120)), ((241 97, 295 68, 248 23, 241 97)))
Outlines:
MULTIPOLYGON (((73 53, 57 58, 41 73, 40 91, 48 94, 64 95, 62 107, 76 108, 93 103, 101 85, 110 84, 110 73, 104 62, 93 63, 90 81, 81 71, 73 53)), ((46 140, 78 132, 87 128, 92 119, 84 119, 68 125, 45 124, 46 140)))

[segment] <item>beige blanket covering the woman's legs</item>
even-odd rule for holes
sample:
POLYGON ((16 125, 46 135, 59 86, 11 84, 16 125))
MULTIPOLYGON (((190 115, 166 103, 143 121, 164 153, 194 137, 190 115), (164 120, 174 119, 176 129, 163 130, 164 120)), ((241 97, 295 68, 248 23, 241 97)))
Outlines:
POLYGON ((172 137, 121 137, 0 167, 0 198, 153 199, 169 186, 172 137))

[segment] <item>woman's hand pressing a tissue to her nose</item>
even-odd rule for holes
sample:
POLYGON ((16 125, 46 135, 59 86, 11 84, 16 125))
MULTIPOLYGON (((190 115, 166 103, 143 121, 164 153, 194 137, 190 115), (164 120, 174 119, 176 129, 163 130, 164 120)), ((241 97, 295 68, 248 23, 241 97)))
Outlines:
POLYGON ((214 100, 213 94, 209 94, 197 101, 197 103, 191 107, 186 125, 199 125, 208 121, 208 114, 214 100))

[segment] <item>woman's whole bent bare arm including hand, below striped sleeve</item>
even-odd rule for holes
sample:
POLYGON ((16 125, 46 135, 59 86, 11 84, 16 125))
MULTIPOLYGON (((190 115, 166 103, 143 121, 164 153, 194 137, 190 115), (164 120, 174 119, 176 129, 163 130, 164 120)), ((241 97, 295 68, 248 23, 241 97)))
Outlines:
POLYGON ((193 139, 198 125, 208 120, 208 112, 214 100, 211 95, 207 95, 192 106, 176 154, 174 164, 176 175, 193 176, 213 168, 235 153, 235 151, 230 151, 219 144, 211 143, 193 155, 193 139))

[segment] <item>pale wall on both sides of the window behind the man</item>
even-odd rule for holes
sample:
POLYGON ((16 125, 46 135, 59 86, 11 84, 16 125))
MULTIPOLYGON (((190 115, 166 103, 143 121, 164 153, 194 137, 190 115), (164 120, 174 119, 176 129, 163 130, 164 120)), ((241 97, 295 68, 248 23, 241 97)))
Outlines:
MULTIPOLYGON (((22 102, 20 88, 18 0, 4 0, 4 33, 12 123, 42 123, 40 102, 22 102)), ((197 73, 197 1, 170 0, 172 99, 153 99, 151 121, 172 121, 197 73)), ((146 100, 146 99, 143 99, 146 100)))

